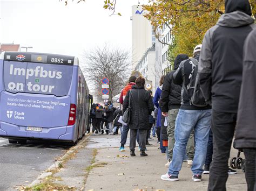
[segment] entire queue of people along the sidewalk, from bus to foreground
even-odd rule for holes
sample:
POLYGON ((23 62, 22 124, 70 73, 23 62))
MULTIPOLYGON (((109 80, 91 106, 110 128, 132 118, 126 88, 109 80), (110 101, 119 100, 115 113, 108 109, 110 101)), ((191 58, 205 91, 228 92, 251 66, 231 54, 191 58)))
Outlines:
MULTIPOLYGON (((163 165, 168 171, 161 180, 178 181, 186 160, 193 181, 210 174, 208 190, 226 190, 228 175, 237 173, 228 167, 235 135, 234 147, 245 154, 247 188, 256 190, 256 26, 251 16, 248 0, 225 0, 225 14, 217 25, 206 32, 203 44, 194 47, 193 57, 177 55, 154 97, 145 90, 142 76, 129 78, 120 96, 123 111, 105 108, 106 114, 113 114, 107 118, 111 126, 115 117, 129 112, 129 123, 114 122, 114 130, 122 129, 119 151, 125 151, 130 130, 131 157, 136 156, 136 139, 140 156, 147 156, 154 129, 152 135, 157 134, 167 157, 163 165)), ((96 108, 93 129, 100 132, 103 121, 98 119, 104 108, 92 108, 96 108)))

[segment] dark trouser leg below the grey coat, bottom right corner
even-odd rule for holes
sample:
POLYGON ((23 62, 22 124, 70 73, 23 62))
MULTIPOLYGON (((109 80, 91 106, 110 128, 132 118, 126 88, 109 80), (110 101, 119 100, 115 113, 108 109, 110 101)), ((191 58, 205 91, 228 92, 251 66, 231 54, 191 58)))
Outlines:
POLYGON ((256 190, 256 148, 244 148, 247 190, 256 190))

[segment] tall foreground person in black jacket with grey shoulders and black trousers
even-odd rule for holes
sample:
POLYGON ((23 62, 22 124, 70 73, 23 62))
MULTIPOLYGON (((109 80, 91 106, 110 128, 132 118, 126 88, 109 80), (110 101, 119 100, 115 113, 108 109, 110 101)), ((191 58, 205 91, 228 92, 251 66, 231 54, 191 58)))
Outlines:
POLYGON ((213 157, 208 190, 226 190, 228 159, 237 123, 243 46, 255 28, 248 0, 225 0, 225 14, 205 34, 199 84, 212 105, 213 157))

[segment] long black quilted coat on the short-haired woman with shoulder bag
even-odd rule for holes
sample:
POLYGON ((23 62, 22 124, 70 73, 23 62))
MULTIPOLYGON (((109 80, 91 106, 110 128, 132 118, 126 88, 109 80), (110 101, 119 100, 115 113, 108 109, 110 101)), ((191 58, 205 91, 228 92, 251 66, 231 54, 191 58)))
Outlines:
POLYGON ((125 96, 123 113, 129 106, 129 99, 131 107, 130 129, 149 129, 149 115, 154 109, 149 91, 145 90, 144 86, 133 86, 125 96))

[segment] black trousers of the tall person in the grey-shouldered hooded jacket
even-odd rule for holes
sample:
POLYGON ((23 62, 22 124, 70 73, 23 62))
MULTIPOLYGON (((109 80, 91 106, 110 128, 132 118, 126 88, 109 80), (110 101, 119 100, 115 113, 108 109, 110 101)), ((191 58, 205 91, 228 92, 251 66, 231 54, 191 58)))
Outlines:
POLYGON ((212 110, 213 157, 208 190, 226 190, 228 158, 234 136, 237 114, 212 110))

